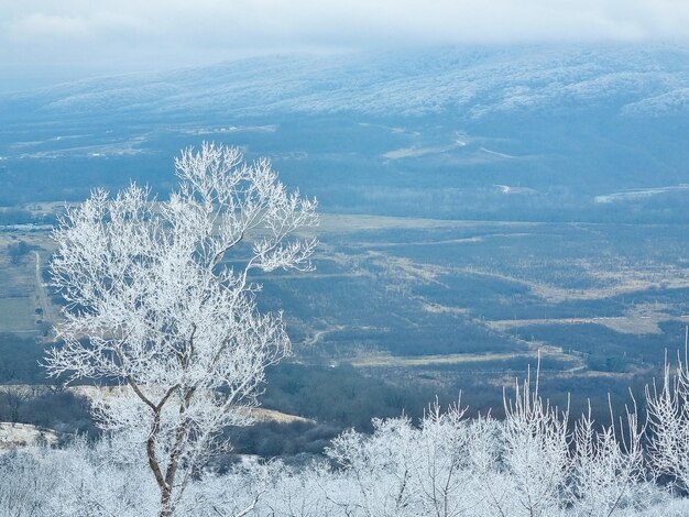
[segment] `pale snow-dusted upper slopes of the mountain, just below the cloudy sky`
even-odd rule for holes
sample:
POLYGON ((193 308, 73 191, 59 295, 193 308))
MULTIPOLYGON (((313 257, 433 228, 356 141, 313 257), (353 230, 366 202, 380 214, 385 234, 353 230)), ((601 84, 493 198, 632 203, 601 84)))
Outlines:
POLYGON ((689 48, 527 46, 272 56, 66 84, 6 96, 34 114, 232 116, 451 112, 466 119, 605 106, 620 116, 689 112, 689 48))

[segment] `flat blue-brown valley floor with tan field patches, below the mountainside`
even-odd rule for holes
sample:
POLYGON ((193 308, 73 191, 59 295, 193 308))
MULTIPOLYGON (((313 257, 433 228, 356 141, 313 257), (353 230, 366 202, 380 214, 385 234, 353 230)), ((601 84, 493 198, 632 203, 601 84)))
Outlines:
MULTIPOLYGON (((555 398, 580 384, 600 398, 650 381, 665 350, 683 346, 687 230, 326 213, 315 273, 253 280, 263 309, 284 308, 305 367, 353 367, 446 399, 464 389, 486 407, 540 356, 555 398)), ((0 332, 51 340, 51 246, 47 228, 0 232, 0 332), (18 242, 29 249, 12 263, 18 242)))

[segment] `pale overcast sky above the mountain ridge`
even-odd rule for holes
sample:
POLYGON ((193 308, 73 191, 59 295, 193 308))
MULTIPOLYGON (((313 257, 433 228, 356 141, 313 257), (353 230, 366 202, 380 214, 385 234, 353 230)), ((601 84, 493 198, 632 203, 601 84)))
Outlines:
POLYGON ((0 91, 260 53, 689 42, 689 0, 0 0, 0 91))

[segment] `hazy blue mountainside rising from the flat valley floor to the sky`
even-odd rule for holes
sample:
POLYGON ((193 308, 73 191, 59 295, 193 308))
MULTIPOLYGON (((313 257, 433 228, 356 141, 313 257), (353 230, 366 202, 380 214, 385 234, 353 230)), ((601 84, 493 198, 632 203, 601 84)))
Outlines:
POLYGON ((166 187, 181 146, 216 140, 330 211, 689 220, 689 47, 262 57, 4 96, 0 117, 0 205, 166 187))

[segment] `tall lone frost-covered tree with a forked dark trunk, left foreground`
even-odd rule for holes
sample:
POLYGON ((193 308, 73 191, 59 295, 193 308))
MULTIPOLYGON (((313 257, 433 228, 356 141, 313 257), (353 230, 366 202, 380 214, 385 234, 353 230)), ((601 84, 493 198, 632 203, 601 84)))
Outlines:
POLYGON ((121 384, 95 414, 140 448, 161 516, 220 431, 247 421, 264 369, 289 353, 282 312, 256 309, 251 273, 310 270, 316 240, 295 232, 317 223, 316 201, 288 193, 266 160, 204 144, 175 166, 168 200, 136 185, 96 190, 59 221, 51 272, 64 344, 46 360, 52 375, 121 384))

